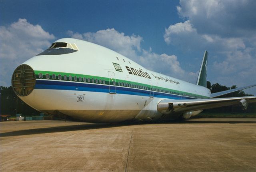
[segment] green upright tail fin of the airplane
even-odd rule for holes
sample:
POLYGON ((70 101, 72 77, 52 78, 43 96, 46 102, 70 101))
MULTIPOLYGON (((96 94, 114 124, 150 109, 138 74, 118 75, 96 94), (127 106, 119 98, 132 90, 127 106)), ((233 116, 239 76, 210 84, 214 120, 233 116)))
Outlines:
POLYGON ((207 87, 207 60, 208 60, 208 52, 204 52, 204 58, 202 60, 201 68, 198 74, 198 78, 196 81, 196 85, 207 87))

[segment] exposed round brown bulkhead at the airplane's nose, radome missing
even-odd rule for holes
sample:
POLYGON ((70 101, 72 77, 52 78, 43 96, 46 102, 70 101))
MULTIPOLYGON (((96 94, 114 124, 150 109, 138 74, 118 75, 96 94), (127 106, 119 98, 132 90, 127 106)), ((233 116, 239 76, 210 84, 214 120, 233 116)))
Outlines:
POLYGON ((27 64, 18 66, 12 74, 12 89, 18 96, 28 96, 36 85, 36 74, 27 64))

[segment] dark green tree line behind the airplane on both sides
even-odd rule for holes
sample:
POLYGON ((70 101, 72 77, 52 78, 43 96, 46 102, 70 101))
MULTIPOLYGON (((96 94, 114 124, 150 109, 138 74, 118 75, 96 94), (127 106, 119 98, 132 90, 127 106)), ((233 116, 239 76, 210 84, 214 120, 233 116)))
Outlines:
MULTIPOLYGON (((211 93, 225 91, 237 88, 236 85, 233 85, 231 87, 227 87, 224 85, 220 85, 218 83, 211 84, 209 81, 207 81, 207 88, 211 90, 211 93)), ((1 96, 1 114, 10 114, 12 116, 15 116, 16 114, 22 114, 22 115, 29 115, 29 116, 36 116, 39 115, 40 112, 37 110, 31 108, 28 106, 25 102, 23 102, 12 90, 12 86, 5 87, 0 86, 0 96, 1 96)), ((237 92, 233 92, 230 94, 226 94, 223 96, 220 96, 218 98, 223 97, 240 97, 240 96, 253 96, 252 94, 246 94, 244 91, 240 90, 237 92)), ((208 109, 204 110, 204 112, 243 112, 242 109, 239 106, 226 106, 222 108, 214 108, 214 109, 208 109)), ((256 113, 256 103, 251 103, 248 106, 248 109, 246 112, 249 113, 256 113)))

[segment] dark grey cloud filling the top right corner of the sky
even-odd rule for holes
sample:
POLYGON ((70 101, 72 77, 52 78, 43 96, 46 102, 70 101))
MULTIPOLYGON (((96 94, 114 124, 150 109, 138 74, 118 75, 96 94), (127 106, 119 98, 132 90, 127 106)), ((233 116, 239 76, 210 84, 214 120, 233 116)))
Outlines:
POLYGON ((200 34, 221 37, 256 35, 255 0, 180 0, 178 14, 200 34))

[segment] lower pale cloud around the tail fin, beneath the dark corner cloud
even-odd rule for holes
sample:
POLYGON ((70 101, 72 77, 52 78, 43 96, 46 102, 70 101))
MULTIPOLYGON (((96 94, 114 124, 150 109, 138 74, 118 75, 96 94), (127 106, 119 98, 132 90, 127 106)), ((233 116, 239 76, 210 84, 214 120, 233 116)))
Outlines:
MULTIPOLYGON (((256 48, 248 44, 247 38, 222 38, 216 35, 199 34, 190 21, 177 23, 166 28, 164 40, 186 52, 203 52, 208 50, 210 60, 208 76, 212 82, 237 84, 244 86, 254 84, 252 75, 256 73, 256 48), (212 56, 215 58, 212 59, 212 56), (246 75, 247 74, 247 75, 246 75), (241 77, 241 78, 240 78, 241 77), (218 78, 218 80, 216 80, 218 78)), ((250 38, 250 40, 253 40, 250 38)))

